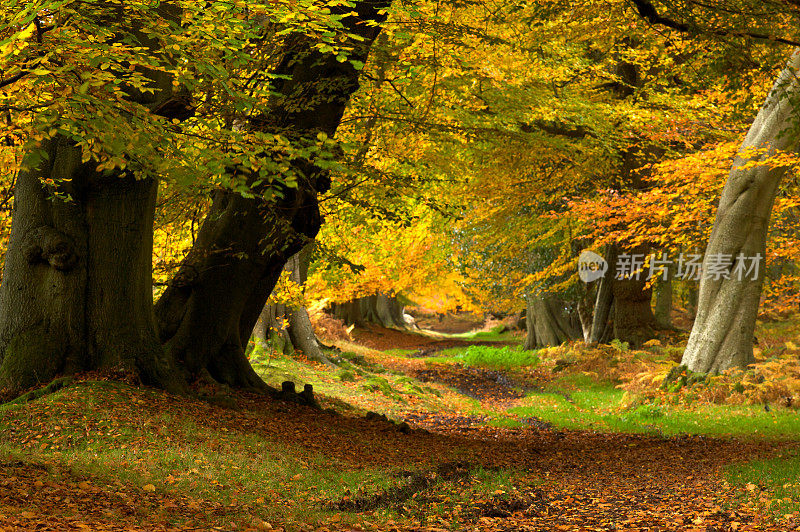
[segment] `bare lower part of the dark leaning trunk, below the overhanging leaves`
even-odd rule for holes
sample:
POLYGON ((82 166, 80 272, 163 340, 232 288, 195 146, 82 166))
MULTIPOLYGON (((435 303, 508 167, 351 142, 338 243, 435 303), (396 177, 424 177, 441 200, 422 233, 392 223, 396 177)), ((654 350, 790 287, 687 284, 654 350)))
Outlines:
POLYGON ((302 245, 298 235, 313 235, 319 226, 313 196, 302 191, 297 196, 287 209, 295 210, 297 225, 286 227, 280 221, 268 224, 271 209, 264 202, 217 192, 195 245, 156 305, 161 341, 192 378, 264 387, 244 355, 258 319, 247 310, 251 298, 269 297, 287 255, 302 245), (290 247, 265 252, 266 241, 290 247), (248 318, 249 328, 242 325, 248 318), (248 330, 244 336, 243 330, 248 330))

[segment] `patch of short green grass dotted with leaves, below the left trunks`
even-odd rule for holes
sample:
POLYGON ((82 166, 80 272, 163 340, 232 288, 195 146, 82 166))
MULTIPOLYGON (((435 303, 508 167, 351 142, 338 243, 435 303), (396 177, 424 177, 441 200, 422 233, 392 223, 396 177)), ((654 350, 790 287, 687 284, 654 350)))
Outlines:
MULTIPOLYGON (((390 467, 353 467, 324 451, 201 425, 147 406, 120 419, 120 408, 130 397, 123 385, 97 382, 39 399, 35 415, 30 405, 2 405, 0 433, 13 434, 17 428, 31 437, 6 438, 0 459, 44 463, 98 483, 123 482, 135 489, 153 485, 157 492, 235 505, 243 522, 253 516, 315 522, 332 513, 324 508, 328 501, 397 482, 390 467)), ((181 522, 168 510, 161 517, 181 522)), ((232 517, 237 516, 228 514, 227 522, 232 517)))

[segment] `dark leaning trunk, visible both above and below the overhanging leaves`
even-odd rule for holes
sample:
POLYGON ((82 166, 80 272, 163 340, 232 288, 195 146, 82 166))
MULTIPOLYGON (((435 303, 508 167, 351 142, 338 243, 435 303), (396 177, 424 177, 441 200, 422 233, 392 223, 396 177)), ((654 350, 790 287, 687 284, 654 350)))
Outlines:
MULTIPOLYGON (((366 61, 385 19, 388 1, 357 2, 358 16, 342 20, 363 41, 352 44, 348 59, 366 61)), ((345 12, 350 8, 341 8, 345 12)), ((251 127, 297 139, 319 133, 333 137, 359 71, 351 61, 321 54, 306 38, 289 43, 273 74, 277 81, 271 109, 251 127)), ((159 334, 167 351, 192 377, 237 387, 266 385, 244 354, 258 317, 286 260, 316 236, 321 224, 317 195, 327 190, 327 173, 297 161, 296 188, 285 188, 279 203, 217 193, 200 235, 156 305, 159 334)), ((256 188, 256 193, 259 189, 256 188)))

